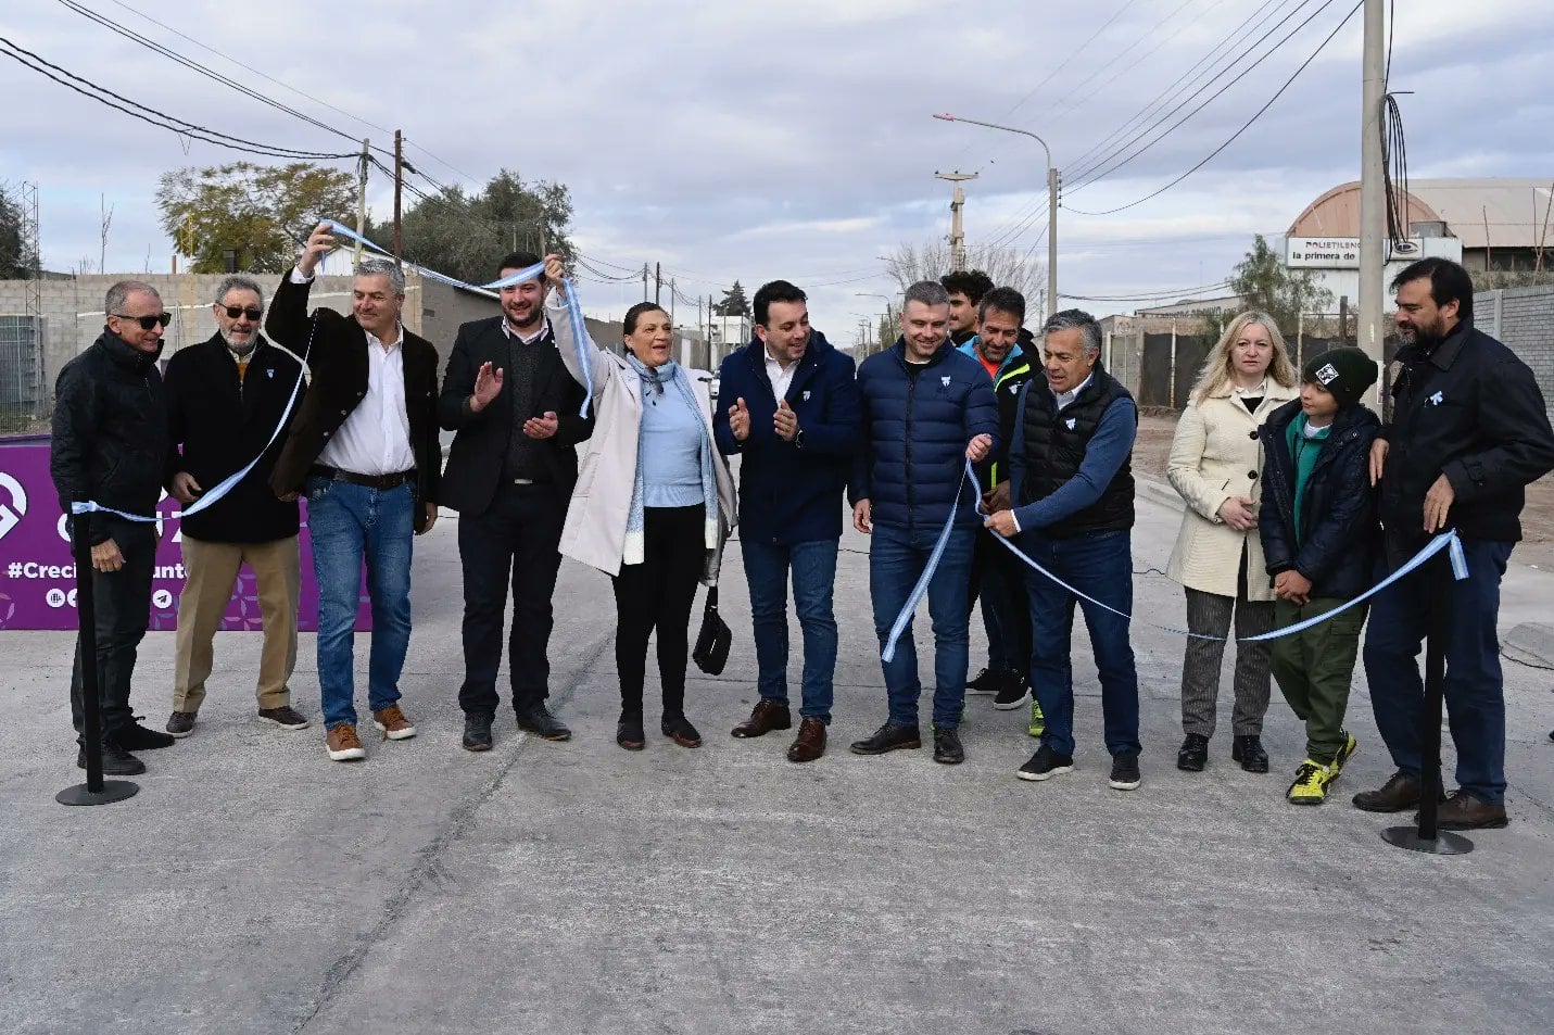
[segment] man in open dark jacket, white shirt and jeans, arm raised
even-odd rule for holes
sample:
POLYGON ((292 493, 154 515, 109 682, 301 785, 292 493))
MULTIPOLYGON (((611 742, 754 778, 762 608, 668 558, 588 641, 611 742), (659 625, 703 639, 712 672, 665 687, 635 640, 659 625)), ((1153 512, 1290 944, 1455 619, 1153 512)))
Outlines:
POLYGON ((415 737, 399 707, 410 646, 412 533, 437 521, 437 350, 399 322, 404 270, 390 260, 356 267, 351 315, 317 309, 308 292, 334 247, 320 224, 275 291, 264 323, 272 340, 312 368, 308 396, 275 462, 270 488, 308 494, 312 567, 319 580, 319 690, 325 744, 334 761, 365 758, 356 734, 351 648, 357 584, 367 561, 373 646, 367 699, 385 740, 415 737))

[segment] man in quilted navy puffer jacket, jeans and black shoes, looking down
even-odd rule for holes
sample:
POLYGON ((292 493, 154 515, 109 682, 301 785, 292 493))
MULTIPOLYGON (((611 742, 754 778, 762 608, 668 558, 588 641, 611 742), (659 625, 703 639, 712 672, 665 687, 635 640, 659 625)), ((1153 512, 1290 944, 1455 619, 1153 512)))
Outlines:
MULTIPOLYGON (((963 474, 968 458, 981 462, 996 444, 998 404, 987 370, 956 351, 946 337, 948 326, 945 289, 934 281, 912 284, 901 311, 901 339, 858 368, 862 451, 848 497, 853 527, 873 535, 869 594, 881 648, 954 508, 954 527, 928 584, 934 626, 934 761, 954 765, 965 760, 956 730, 970 660, 971 545, 982 524, 976 488, 963 474)), ((892 660, 881 665, 890 716, 872 737, 852 746, 859 755, 922 744, 917 699, 923 688, 911 622, 892 660)))

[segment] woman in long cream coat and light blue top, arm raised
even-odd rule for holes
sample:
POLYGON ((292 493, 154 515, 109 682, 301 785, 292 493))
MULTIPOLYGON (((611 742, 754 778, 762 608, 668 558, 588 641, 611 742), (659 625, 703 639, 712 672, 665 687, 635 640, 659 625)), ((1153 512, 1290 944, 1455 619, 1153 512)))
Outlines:
POLYGON ((594 437, 561 531, 561 553, 597 567, 615 589, 615 741, 645 746, 642 685, 648 637, 657 629, 660 729, 684 748, 701 744, 685 718, 685 660, 696 581, 713 586, 737 504, 727 460, 712 438, 712 375, 673 361, 668 314, 642 303, 626 312, 626 356, 572 328, 561 260, 545 256, 545 315, 572 378, 592 375, 594 437))

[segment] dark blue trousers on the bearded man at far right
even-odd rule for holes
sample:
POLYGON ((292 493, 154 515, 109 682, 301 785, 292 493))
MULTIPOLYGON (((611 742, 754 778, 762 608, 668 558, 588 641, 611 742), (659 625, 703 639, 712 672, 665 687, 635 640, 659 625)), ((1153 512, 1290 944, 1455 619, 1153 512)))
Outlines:
MULTIPOLYGON (((1458 583, 1444 575, 1442 556, 1383 589, 1371 598, 1371 625, 1364 637, 1364 674, 1375 726, 1392 752, 1392 763, 1417 777, 1422 765, 1419 723, 1425 710, 1419 651, 1430 629, 1430 601, 1437 597, 1427 580, 1450 583, 1445 702, 1458 752, 1458 785, 1490 805, 1506 800, 1506 687, 1495 623, 1500 578, 1512 545, 1464 539, 1467 580, 1458 583)), ((1378 581, 1392 570, 1383 559, 1378 581)))

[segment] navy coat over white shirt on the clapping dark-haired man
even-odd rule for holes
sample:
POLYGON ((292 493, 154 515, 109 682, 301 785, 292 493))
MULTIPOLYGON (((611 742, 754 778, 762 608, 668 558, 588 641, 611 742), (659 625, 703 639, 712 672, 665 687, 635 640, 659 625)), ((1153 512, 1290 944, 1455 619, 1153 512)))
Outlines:
POLYGON ((788 407, 799 416, 797 441, 772 427, 777 398, 766 376, 760 339, 729 353, 718 371, 718 406, 712 416, 718 449, 740 454, 740 538, 791 545, 842 535, 842 490, 858 449, 858 382, 853 361, 819 331, 788 385, 788 407), (744 399, 751 434, 729 429, 729 407, 744 399))

